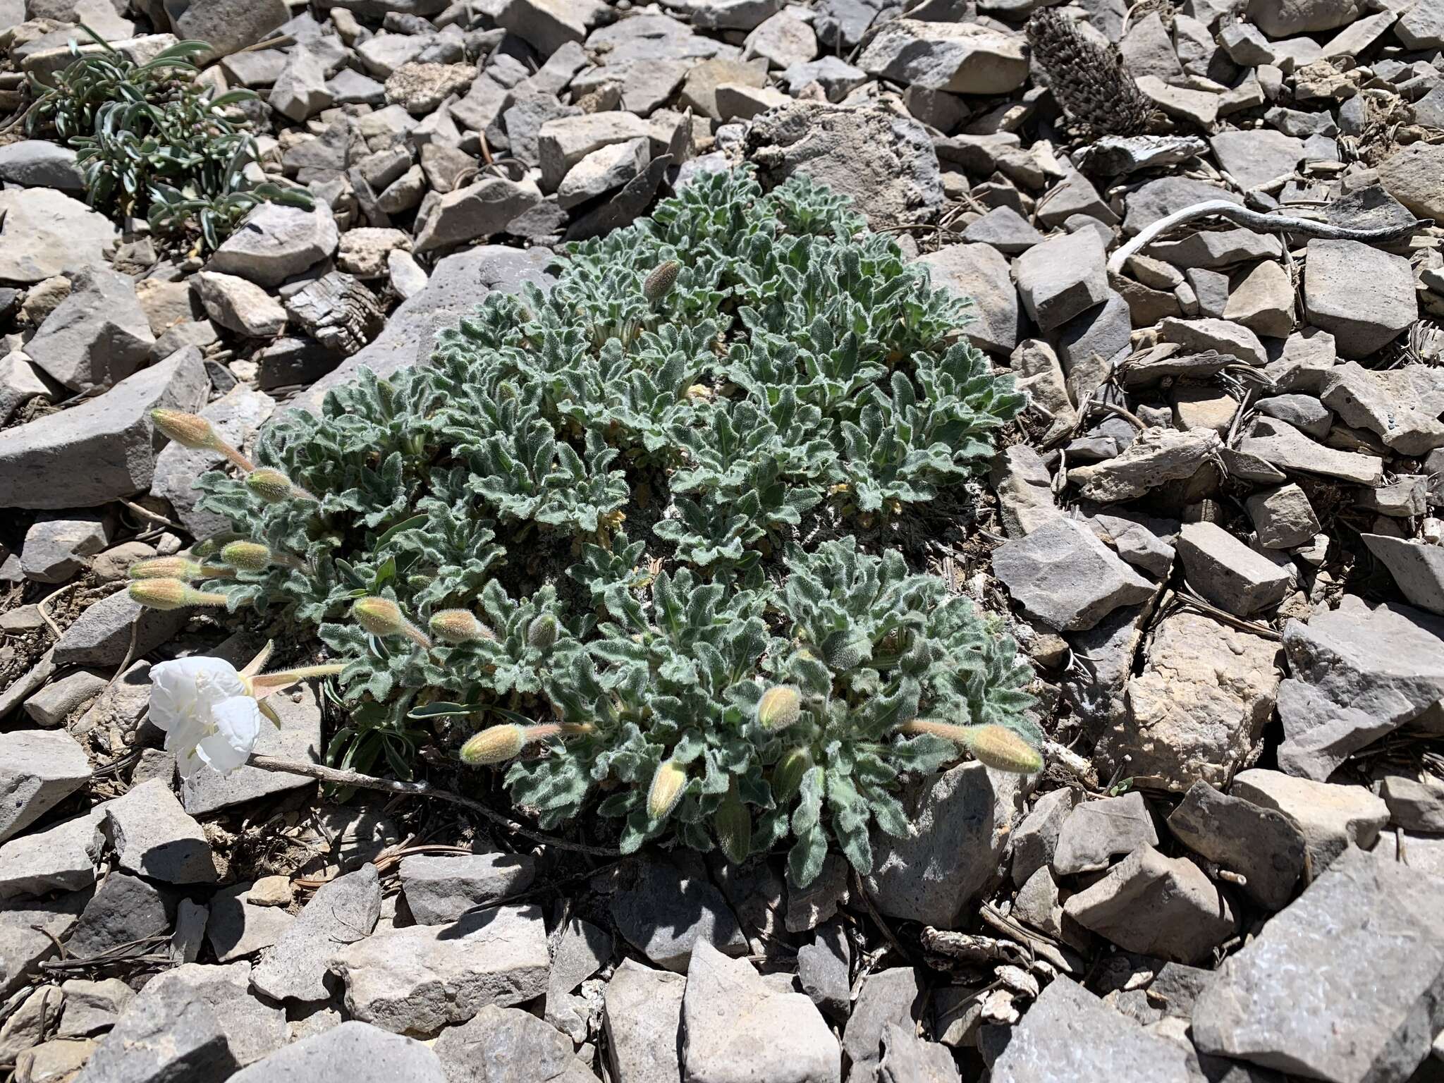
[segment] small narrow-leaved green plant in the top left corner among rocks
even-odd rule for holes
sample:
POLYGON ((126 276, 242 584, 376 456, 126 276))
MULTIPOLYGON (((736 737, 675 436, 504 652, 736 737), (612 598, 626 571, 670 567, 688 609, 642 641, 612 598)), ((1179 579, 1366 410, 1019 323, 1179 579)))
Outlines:
POLYGON ((53 130, 75 150, 92 206, 147 215, 152 228, 176 232, 193 221, 202 244, 215 248, 256 204, 312 208, 312 196, 274 182, 250 183, 245 166, 260 159, 250 124, 234 105, 248 90, 212 92, 195 82, 205 42, 176 42, 136 64, 90 27, 88 51, 71 42, 75 59, 53 85, 30 75, 35 103, 27 131, 53 130))

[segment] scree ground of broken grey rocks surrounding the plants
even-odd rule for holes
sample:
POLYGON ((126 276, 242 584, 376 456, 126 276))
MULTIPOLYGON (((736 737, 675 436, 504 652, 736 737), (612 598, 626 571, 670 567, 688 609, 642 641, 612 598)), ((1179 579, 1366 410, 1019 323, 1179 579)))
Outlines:
MULTIPOLYGON (((1060 108, 1035 6, 3 9, 7 107, 81 22, 142 58, 204 38, 202 78, 264 98, 261 170, 319 202, 193 257, 87 209, 72 150, 6 131, 0 1064, 22 1083, 1441 1074, 1444 254, 1409 222, 1444 218, 1444 6, 1053 9, 1119 46, 1154 107, 1129 134, 1060 108), (297 775, 178 788, 149 667, 256 644, 117 592, 219 526, 191 488, 218 459, 147 412, 248 446, 279 406, 546 282, 550 247, 742 162, 852 195, 975 299, 965 334, 1031 391, 982 518, 934 556, 1017 615, 1044 774, 957 767, 910 794, 918 838, 868 882, 838 858, 806 891, 778 864, 592 861, 297 775), (1216 218, 1110 266, 1217 199, 1402 232, 1216 218)), ((263 751, 319 760, 325 703, 280 710, 263 751)))

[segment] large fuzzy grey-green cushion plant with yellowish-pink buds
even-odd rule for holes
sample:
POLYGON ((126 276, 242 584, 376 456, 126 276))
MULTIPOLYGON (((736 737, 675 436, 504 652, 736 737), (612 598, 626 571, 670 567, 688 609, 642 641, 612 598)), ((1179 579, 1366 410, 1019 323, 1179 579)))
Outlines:
POLYGON ((790 839, 807 884, 836 840, 868 872, 907 777, 1038 770, 1001 621, 888 542, 1022 403, 965 305, 800 176, 703 176, 557 264, 232 452, 198 484, 235 534, 133 593, 313 630, 348 663, 335 762, 404 775, 429 725, 624 851, 790 839))

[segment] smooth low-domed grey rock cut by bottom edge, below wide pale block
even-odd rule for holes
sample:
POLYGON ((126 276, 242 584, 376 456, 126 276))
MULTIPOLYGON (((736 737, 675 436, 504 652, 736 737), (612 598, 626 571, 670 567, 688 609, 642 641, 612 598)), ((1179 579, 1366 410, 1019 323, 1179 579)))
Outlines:
POLYGON ((348 1021, 302 1038, 230 1077, 230 1083, 449 1083, 436 1054, 413 1038, 348 1021))

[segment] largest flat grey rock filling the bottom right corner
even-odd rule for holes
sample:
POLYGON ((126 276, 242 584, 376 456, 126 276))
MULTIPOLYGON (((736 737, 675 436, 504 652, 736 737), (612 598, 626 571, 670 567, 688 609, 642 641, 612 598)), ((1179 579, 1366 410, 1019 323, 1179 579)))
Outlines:
POLYGON ((1199 995, 1199 1050, 1331 1083, 1409 1079, 1444 1025, 1441 898, 1444 879, 1350 851, 1199 995))

